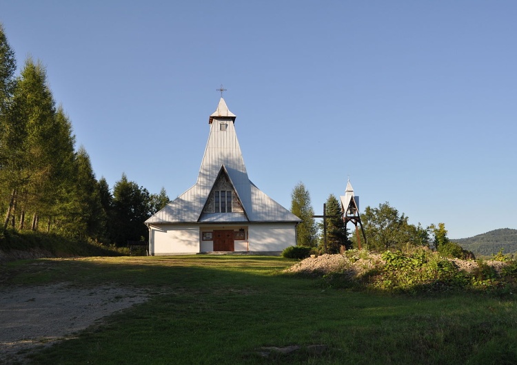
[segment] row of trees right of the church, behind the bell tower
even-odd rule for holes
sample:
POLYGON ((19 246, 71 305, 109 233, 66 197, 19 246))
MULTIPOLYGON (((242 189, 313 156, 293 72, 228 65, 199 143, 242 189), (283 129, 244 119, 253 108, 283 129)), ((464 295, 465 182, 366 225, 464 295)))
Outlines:
MULTIPOLYGON (((291 194, 291 211, 302 222, 296 227, 296 244, 312 247, 317 253, 338 253, 342 248, 358 248, 356 236, 350 235, 341 218, 341 203, 334 194, 330 194, 325 203, 327 218, 326 237, 323 236, 323 222, 316 223, 313 218, 309 191, 303 183, 298 183, 291 194), (323 242, 327 243, 325 249, 323 242)), ((412 225, 404 213, 384 202, 378 207, 366 207, 361 213, 361 222, 365 229, 367 249, 383 252, 402 250, 409 247, 429 247, 445 256, 455 258, 473 257, 447 237, 445 223, 423 227, 420 223, 412 225)))

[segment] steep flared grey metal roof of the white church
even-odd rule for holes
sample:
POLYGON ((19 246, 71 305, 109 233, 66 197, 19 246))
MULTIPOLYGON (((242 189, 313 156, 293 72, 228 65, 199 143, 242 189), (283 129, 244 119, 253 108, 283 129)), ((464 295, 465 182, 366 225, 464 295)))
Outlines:
POLYGON ((210 134, 196 184, 145 223, 168 222, 301 222, 257 188, 247 176, 234 121, 223 98, 210 116, 210 134), (224 169, 244 213, 202 213, 212 187, 224 169))

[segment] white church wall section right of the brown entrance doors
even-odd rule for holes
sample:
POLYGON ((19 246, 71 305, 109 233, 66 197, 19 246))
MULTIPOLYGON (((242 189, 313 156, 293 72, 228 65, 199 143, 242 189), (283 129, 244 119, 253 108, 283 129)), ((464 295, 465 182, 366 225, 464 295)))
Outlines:
POLYGON ((250 251, 281 252, 296 245, 296 224, 260 224, 248 227, 250 251))

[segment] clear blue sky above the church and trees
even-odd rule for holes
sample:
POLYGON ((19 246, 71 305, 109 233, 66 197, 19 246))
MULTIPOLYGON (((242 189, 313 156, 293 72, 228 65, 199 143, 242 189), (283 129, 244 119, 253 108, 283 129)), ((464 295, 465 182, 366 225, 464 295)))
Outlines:
POLYGON ((250 180, 315 214, 347 180, 449 238, 517 229, 516 1, 0 0, 97 178, 196 183, 221 84, 250 180))

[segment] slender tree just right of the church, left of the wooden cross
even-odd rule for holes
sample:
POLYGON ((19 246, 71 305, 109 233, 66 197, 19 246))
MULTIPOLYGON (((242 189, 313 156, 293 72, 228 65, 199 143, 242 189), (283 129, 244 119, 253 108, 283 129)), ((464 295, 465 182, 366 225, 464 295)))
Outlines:
POLYGON ((316 246, 316 222, 309 191, 303 183, 298 183, 291 194, 291 212, 302 222, 296 226, 296 243, 300 246, 316 246))

